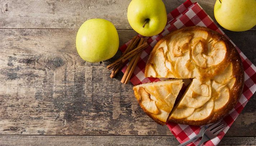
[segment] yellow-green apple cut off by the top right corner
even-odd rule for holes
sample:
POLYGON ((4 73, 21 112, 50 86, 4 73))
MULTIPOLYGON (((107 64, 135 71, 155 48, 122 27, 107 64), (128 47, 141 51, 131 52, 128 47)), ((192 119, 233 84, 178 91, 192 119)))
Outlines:
POLYGON ((256 25, 256 0, 217 0, 214 16, 225 29, 249 30, 256 25))

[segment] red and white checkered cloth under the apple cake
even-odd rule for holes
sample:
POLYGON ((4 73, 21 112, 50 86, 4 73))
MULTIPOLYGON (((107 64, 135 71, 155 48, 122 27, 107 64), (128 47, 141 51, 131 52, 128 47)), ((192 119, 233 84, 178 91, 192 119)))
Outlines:
MULTIPOLYGON (((168 19, 167 25, 160 34, 153 37, 148 37, 148 43, 150 44, 150 47, 146 48, 141 54, 140 60, 134 70, 133 75, 131 76, 130 81, 133 85, 148 83, 152 81, 165 80, 165 79, 145 77, 144 71, 145 71, 146 61, 148 60, 148 57, 152 48, 159 41, 160 38, 162 38, 163 36, 165 36, 166 34, 170 33, 173 30, 177 30, 183 27, 199 25, 199 26, 204 26, 212 30, 215 30, 220 34, 224 34, 224 36, 229 41, 231 41, 225 35, 225 33, 218 27, 218 25, 213 22, 213 20, 209 17, 209 15, 205 13, 205 11, 201 8, 201 6, 198 3, 192 3, 190 0, 187 0, 185 3, 180 5, 178 8, 174 9, 171 13, 169 13, 167 15, 167 19, 168 19)), ((126 44, 121 46, 120 50, 123 52, 129 43, 130 42, 127 42, 126 44)), ((236 47, 237 51, 241 56, 243 67, 245 70, 245 86, 243 89, 243 94, 239 102, 237 103, 237 105, 223 119, 223 121, 225 121, 228 126, 222 132, 219 133, 218 137, 206 142, 205 143, 206 146, 218 145, 220 140, 228 131, 229 127, 232 125, 234 120, 238 117, 242 109, 245 107, 248 100, 256 91, 256 67, 255 65, 252 64, 250 60, 248 60, 248 58, 239 50, 239 48, 235 44, 234 46, 236 47)), ((122 72, 125 72, 126 68, 127 68, 127 65, 123 67, 122 72)), ((188 84, 189 82, 185 83, 185 86, 188 84)), ((197 135, 201 129, 199 126, 182 125, 182 124, 177 124, 173 122, 169 122, 167 126, 169 127, 173 135, 177 138, 177 140, 181 143, 197 135)), ((190 143, 190 146, 196 145, 197 143, 199 143, 199 141, 200 140, 197 140, 194 143, 190 143)))

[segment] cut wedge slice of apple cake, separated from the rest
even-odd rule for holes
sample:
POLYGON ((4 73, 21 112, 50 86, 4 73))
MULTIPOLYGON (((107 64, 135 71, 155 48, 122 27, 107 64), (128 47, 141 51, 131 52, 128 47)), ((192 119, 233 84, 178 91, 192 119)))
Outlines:
POLYGON ((183 85, 182 79, 170 79, 133 87, 141 108, 159 124, 165 124, 183 85))

